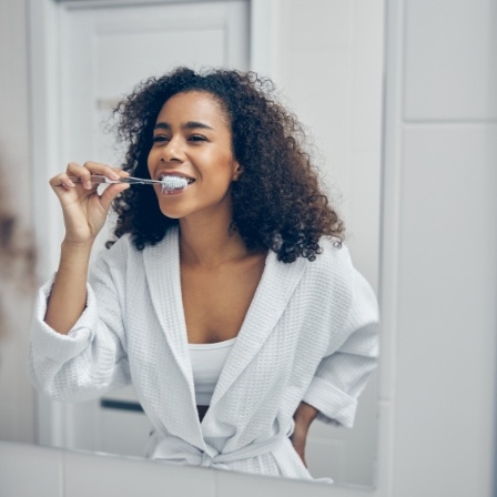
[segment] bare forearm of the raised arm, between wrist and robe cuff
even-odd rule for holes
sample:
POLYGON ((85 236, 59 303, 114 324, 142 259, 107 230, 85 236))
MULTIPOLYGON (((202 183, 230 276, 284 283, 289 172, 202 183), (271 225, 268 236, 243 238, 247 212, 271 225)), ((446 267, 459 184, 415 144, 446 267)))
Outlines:
POLYGON ((60 334, 68 334, 85 308, 91 248, 91 243, 62 243, 59 270, 44 316, 45 323, 60 334))

